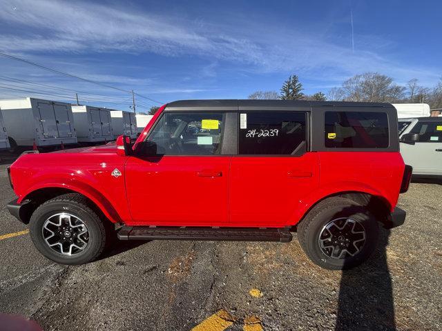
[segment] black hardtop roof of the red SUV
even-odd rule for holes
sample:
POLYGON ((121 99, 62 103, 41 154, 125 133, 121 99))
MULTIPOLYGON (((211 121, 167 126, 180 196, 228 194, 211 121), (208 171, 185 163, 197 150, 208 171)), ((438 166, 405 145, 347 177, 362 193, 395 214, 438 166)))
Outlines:
POLYGON ((307 100, 179 100, 168 103, 165 110, 310 110, 311 107, 386 107, 391 103, 349 102, 349 101, 307 101, 307 100))

